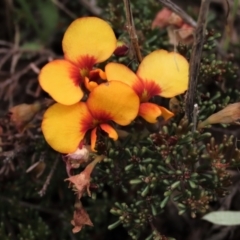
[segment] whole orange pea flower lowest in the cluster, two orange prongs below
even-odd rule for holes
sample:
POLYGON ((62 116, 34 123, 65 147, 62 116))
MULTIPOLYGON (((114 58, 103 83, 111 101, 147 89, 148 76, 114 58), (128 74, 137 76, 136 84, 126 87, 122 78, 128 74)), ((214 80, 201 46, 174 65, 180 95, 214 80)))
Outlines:
POLYGON ((138 109, 139 98, 133 89, 125 83, 109 81, 94 88, 86 102, 52 105, 43 116, 42 131, 48 144, 61 153, 75 152, 90 131, 94 150, 97 129, 117 140, 112 122, 128 125, 137 116, 138 109))

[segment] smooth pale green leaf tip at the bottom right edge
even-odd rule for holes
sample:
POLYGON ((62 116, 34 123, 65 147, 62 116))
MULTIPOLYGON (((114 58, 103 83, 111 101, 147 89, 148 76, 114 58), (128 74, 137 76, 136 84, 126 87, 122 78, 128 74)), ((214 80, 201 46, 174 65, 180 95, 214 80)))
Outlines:
POLYGON ((218 225, 240 225, 240 211, 211 212, 202 219, 218 225))

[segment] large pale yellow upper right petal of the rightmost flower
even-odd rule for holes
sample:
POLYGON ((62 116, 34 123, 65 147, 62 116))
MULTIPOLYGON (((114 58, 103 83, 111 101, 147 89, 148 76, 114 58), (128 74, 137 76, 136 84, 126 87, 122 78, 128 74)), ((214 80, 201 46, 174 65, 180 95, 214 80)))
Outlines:
POLYGON ((156 50, 143 59, 137 75, 159 85, 160 96, 174 97, 187 90, 188 69, 189 64, 182 55, 156 50))

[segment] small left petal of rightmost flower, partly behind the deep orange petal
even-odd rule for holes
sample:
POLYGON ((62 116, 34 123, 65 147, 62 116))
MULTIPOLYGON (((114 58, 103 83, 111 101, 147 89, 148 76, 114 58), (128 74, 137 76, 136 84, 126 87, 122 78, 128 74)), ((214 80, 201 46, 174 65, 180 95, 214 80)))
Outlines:
POLYGON ((136 74, 128 67, 120 63, 108 63, 105 66, 105 73, 108 81, 120 81, 131 87, 138 81, 136 74))

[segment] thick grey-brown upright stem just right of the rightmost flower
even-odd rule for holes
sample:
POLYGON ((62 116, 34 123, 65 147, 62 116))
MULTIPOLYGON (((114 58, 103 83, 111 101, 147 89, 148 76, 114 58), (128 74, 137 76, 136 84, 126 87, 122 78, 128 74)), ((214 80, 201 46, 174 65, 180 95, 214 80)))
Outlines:
POLYGON ((210 0, 202 0, 197 21, 197 27, 194 32, 194 42, 191 52, 189 68, 189 84, 186 98, 186 116, 189 123, 191 123, 193 119, 194 101, 196 97, 197 82, 200 71, 209 3, 210 0))

